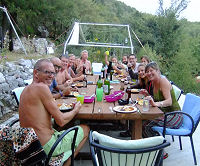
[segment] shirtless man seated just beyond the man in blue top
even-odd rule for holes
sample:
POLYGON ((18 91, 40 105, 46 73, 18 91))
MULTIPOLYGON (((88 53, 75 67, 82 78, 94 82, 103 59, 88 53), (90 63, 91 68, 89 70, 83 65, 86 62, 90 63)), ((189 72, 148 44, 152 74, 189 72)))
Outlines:
POLYGON ((58 85, 69 86, 73 82, 73 79, 66 70, 68 65, 68 56, 63 55, 60 60, 62 61, 62 68, 56 75, 56 81, 58 85))

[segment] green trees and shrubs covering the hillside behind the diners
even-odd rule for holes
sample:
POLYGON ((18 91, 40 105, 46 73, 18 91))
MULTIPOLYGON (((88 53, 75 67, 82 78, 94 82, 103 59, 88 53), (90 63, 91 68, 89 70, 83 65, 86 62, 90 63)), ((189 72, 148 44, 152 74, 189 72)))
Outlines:
MULTIPOLYGON (((49 38, 57 45, 57 54, 63 50, 74 21, 129 24, 137 34, 145 50, 133 35, 135 53, 138 60, 147 54, 159 63, 162 74, 166 75, 185 92, 200 94, 200 84, 195 76, 200 75, 200 23, 178 19, 188 4, 187 0, 177 0, 168 9, 163 9, 159 0, 156 16, 138 12, 116 0, 4 0, 13 20, 19 26, 18 34, 40 36, 39 26, 49 31, 49 38)), ((172 1, 175 2, 175 1, 172 1)), ((3 34, 9 29, 5 15, 0 15, 3 34)), ((13 33, 9 33, 12 40, 13 33)), ((91 39, 94 38, 90 36, 91 39)), ((9 47, 12 50, 12 44, 9 47)), ((79 55, 83 48, 69 48, 69 52, 79 55)), ((99 61, 106 48, 85 48, 89 50, 90 60, 99 61)), ((111 50, 121 57, 130 50, 111 50)))

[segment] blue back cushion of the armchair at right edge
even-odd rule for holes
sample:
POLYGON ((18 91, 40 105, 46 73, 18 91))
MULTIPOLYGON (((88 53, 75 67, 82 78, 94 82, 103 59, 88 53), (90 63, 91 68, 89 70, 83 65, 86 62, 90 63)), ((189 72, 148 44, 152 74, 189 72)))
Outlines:
MULTIPOLYGON (((187 93, 182 111, 192 116, 194 123, 196 124, 200 117, 200 97, 191 93, 187 93)), ((191 129, 192 126, 189 118, 183 119, 183 126, 191 129)))

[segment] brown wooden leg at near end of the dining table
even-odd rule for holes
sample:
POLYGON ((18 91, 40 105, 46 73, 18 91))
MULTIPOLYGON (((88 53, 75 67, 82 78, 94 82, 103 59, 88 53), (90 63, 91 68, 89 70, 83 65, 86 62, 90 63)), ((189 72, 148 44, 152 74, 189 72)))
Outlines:
POLYGON ((142 138, 142 120, 136 119, 132 121, 131 129, 131 139, 141 139, 142 138))

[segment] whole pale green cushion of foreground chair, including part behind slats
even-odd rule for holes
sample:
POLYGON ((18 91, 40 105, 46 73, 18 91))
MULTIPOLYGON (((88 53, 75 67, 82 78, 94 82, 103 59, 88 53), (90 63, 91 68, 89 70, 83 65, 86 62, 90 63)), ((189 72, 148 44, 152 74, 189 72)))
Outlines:
MULTIPOLYGON (((162 136, 156 136, 151 138, 139 139, 139 140, 120 140, 100 134, 98 132, 92 133, 93 138, 99 140, 99 144, 106 147, 122 149, 122 150, 137 150, 148 147, 154 147, 163 143, 164 138, 162 136)), ((146 152, 146 153, 133 153, 122 154, 110 153, 107 151, 101 151, 103 166, 117 166, 117 165, 151 165, 155 163, 155 158, 158 151, 146 152), (149 164, 147 164, 149 162, 149 164), (134 163, 134 164, 133 164, 134 163)), ((99 162, 97 158, 97 162, 99 162)))

